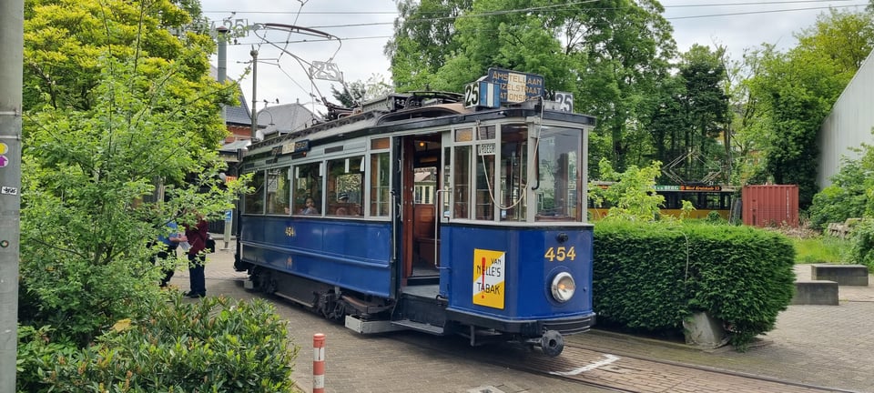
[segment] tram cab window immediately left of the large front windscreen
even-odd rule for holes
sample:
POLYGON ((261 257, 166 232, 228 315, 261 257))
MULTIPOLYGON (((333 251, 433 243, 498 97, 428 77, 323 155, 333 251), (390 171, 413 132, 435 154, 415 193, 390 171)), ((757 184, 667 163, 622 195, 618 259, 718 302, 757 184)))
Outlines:
POLYGON ((528 185, 528 128, 501 126, 501 220, 525 220, 528 185))

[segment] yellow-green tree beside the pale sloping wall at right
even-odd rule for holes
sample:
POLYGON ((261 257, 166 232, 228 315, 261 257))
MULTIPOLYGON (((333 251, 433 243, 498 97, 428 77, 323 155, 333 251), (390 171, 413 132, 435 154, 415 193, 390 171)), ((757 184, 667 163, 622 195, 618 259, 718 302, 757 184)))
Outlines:
POLYGON ((874 47, 871 18, 869 13, 831 10, 800 33, 799 45, 787 53, 766 45, 748 57, 757 73, 746 82, 747 105, 755 106, 756 114, 747 134, 760 135, 763 159, 753 180, 797 184, 801 208, 809 207, 818 191, 819 127, 855 75, 859 53, 874 47))

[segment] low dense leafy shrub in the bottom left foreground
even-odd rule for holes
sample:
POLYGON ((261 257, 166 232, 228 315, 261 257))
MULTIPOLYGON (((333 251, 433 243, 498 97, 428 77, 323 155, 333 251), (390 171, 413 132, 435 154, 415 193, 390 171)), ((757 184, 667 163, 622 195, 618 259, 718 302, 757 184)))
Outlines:
POLYGON ((81 352, 41 361, 42 391, 297 391, 290 377, 299 348, 286 325, 263 300, 177 296, 147 317, 118 321, 81 352))

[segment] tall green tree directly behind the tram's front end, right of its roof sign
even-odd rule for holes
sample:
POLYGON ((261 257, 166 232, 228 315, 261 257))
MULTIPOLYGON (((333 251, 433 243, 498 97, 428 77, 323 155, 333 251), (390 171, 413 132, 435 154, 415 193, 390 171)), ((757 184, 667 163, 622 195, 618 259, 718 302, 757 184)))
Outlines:
POLYGON ((572 24, 584 32, 574 45, 574 55, 585 65, 580 107, 598 118, 596 132, 608 139, 606 154, 618 170, 648 159, 633 156, 650 149, 648 130, 640 124, 643 103, 670 74, 669 59, 676 55, 664 11, 655 1, 613 0, 580 13, 572 24))

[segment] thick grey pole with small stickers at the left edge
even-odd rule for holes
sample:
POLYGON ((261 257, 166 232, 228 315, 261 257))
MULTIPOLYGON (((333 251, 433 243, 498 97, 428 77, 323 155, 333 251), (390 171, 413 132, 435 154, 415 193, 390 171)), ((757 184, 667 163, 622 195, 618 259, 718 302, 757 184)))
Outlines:
POLYGON ((0 1, 0 393, 15 391, 24 0, 0 1))

